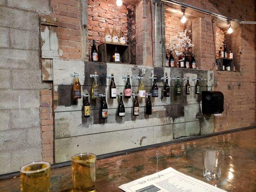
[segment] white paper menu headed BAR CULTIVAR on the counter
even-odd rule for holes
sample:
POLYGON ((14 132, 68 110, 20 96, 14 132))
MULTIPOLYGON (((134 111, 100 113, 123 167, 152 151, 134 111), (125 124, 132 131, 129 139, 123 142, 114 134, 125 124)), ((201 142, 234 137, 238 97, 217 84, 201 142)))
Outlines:
POLYGON ((173 168, 119 186, 125 192, 225 192, 173 168))

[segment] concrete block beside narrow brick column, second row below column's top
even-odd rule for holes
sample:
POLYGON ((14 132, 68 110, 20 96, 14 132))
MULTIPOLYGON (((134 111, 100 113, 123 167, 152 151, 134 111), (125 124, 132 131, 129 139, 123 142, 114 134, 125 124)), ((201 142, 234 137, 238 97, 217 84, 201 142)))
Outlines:
POLYGON ((40 125, 39 108, 11 111, 11 128, 22 129, 40 125))

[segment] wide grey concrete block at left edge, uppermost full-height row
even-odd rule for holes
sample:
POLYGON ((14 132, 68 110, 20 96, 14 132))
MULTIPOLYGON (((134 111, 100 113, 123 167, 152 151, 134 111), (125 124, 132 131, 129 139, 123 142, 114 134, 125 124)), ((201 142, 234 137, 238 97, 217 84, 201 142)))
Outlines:
POLYGON ((37 13, 25 12, 22 10, 7 7, 0 7, 1 26, 38 31, 38 23, 39 22, 37 13))

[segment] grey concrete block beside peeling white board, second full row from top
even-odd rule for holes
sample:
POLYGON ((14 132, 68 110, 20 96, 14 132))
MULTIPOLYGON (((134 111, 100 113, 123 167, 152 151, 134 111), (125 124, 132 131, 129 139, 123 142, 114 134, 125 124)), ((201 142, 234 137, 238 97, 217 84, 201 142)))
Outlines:
MULTIPOLYGON (((22 3, 20 3, 22 4, 22 3)), ((39 49, 38 31, 10 29, 11 47, 20 49, 39 49)))

